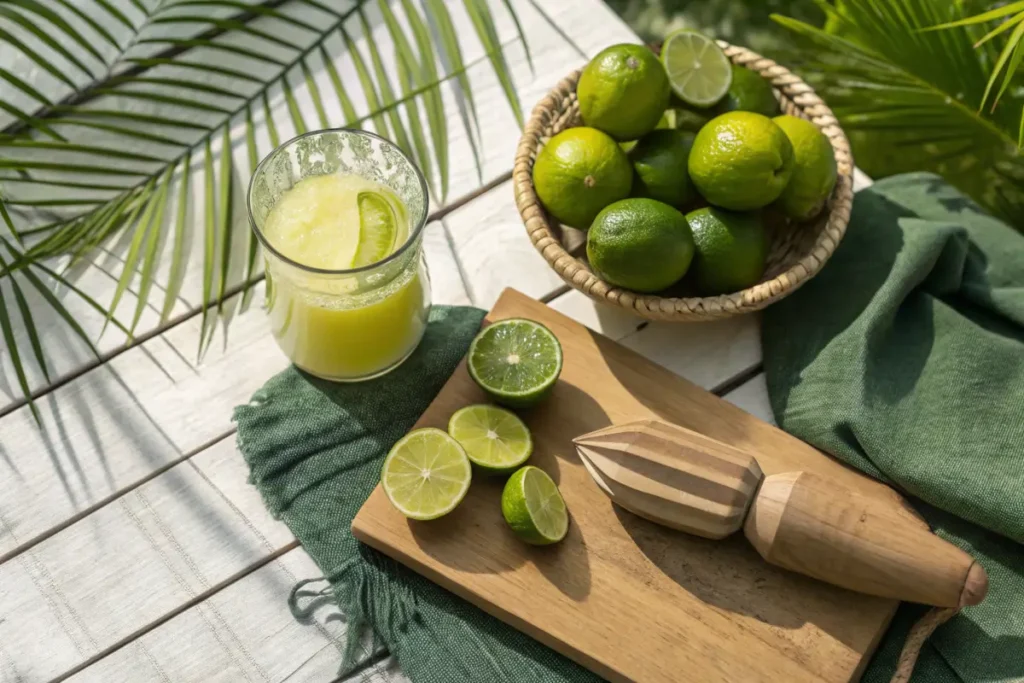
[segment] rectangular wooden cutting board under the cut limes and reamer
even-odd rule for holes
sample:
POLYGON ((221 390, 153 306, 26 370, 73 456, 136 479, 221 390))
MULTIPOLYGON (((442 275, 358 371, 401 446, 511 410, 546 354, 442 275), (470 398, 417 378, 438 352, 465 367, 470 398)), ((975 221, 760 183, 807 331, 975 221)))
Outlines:
MULTIPOLYGON (((610 681, 857 679, 895 601, 774 568, 741 535, 709 541, 612 506, 571 438, 657 417, 749 450, 766 475, 815 471, 894 506, 895 494, 518 292, 506 290, 487 315, 506 317, 547 325, 564 349, 554 392, 523 418, 530 463, 568 506, 566 539, 520 543, 502 518, 503 481, 476 473, 459 508, 430 522, 407 520, 378 486, 355 537, 610 681)), ((456 410, 484 400, 463 362, 417 427, 444 429, 456 410)))

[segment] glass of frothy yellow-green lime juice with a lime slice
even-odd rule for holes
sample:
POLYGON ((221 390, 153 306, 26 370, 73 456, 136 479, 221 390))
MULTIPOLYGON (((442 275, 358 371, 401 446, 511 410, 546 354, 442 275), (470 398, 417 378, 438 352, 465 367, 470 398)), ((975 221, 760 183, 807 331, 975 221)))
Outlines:
POLYGON ((301 370, 357 382, 416 349, 430 311, 427 203, 416 165, 360 130, 306 133, 260 162, 249 221, 263 245, 271 331, 301 370))

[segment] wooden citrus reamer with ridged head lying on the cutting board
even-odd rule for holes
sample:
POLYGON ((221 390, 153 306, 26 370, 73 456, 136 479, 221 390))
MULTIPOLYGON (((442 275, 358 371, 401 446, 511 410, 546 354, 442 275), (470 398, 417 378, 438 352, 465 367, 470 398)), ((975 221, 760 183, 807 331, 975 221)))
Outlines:
POLYGON ((984 568, 891 502, 811 472, 765 477, 748 453, 656 420, 573 439, 622 507, 709 539, 740 527, 768 562, 850 590, 938 607, 981 602, 984 568))

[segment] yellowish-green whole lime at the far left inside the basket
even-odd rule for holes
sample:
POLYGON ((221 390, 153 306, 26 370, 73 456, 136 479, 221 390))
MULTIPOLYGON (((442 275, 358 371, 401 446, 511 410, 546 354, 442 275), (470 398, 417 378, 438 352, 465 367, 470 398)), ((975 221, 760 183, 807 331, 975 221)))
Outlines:
POLYGON ((544 145, 534 164, 534 188, 544 207, 582 230, 601 209, 628 197, 632 185, 626 153, 596 128, 563 130, 544 145))

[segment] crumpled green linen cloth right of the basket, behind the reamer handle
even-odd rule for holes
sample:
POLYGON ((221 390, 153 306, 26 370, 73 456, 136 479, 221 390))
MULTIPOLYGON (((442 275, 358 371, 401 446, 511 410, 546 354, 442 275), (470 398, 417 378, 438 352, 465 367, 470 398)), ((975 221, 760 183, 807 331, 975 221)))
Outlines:
MULTIPOLYGON (((988 599, 913 681, 1024 681, 1024 237, 930 174, 857 195, 821 272, 763 317, 779 426, 883 479, 977 557, 988 599)), ((923 613, 900 608, 864 680, 923 613)))

